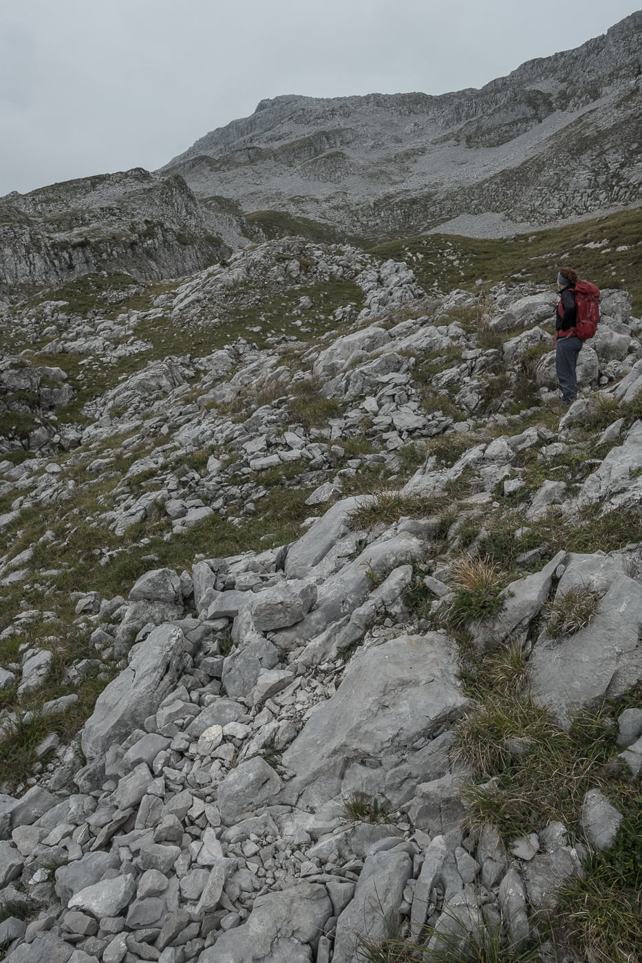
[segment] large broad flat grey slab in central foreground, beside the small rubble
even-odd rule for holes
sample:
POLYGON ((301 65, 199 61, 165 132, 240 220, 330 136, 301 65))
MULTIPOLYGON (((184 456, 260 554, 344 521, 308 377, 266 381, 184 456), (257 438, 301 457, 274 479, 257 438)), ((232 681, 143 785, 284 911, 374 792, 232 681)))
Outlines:
POLYGON ((341 794, 351 763, 366 765, 383 793, 400 751, 468 704, 457 671, 453 643, 436 632, 363 651, 283 754, 283 765, 295 773, 284 794, 302 808, 321 806, 341 794))

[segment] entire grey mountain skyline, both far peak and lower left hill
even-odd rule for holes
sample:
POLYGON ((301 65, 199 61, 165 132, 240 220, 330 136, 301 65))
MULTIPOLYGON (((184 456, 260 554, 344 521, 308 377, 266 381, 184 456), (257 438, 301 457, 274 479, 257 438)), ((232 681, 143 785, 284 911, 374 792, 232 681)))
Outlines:
POLYGON ((303 234, 506 236, 642 200, 642 12, 480 90, 259 102, 155 173, 0 198, 0 292, 163 280, 303 234))

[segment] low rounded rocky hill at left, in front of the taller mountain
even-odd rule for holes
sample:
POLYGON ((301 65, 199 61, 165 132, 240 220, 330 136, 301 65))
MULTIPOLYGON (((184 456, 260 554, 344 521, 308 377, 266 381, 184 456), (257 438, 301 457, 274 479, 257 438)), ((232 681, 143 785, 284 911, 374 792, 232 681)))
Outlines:
POLYGON ((96 271, 176 277, 220 260, 235 221, 203 207, 181 177, 99 174, 0 198, 0 294, 96 271))

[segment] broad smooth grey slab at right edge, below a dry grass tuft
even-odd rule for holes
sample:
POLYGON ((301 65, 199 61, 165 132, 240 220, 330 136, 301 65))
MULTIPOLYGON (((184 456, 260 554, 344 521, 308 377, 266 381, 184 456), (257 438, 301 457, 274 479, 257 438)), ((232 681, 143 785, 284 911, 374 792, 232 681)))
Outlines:
POLYGON ((535 701, 564 726, 581 709, 597 708, 642 678, 642 586, 616 578, 587 628, 561 639, 542 634, 528 665, 535 701))

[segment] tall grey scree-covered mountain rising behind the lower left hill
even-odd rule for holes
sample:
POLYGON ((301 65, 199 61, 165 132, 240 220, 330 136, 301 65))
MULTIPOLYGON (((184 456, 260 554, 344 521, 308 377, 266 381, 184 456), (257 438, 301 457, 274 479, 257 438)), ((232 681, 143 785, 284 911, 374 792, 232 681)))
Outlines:
POLYGON ((464 215, 493 236, 624 205, 640 198, 641 35, 632 13, 479 91, 264 100, 165 171, 246 212, 379 240, 464 215))

